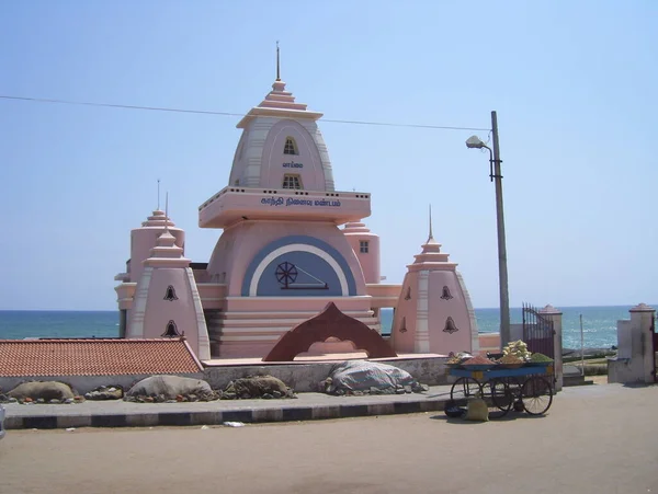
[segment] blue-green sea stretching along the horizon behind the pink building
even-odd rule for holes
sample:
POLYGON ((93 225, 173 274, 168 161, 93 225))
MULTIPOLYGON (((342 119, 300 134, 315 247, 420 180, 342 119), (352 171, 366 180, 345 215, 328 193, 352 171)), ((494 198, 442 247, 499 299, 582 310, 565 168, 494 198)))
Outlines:
MULTIPOLYGON (((657 307, 657 306, 651 306, 657 307)), ((566 307, 563 311, 563 346, 580 348, 580 317, 583 346, 610 348, 617 344, 616 322, 629 319, 631 306, 566 307)), ((521 323, 521 308, 510 310, 511 322, 521 323)), ((480 333, 496 333, 498 309, 475 309, 480 333)), ((382 309, 382 333, 390 333, 393 309, 382 309)), ((118 311, 0 311, 0 340, 117 337, 118 311)))

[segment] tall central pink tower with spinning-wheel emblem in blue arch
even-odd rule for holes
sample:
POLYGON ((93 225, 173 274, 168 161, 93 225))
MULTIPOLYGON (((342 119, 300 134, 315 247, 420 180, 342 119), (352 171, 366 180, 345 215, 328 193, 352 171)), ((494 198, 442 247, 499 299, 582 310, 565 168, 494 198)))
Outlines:
MULTIPOLYGON (((198 208, 200 227, 224 229, 207 266, 226 294, 208 321, 214 356, 262 357, 329 301, 378 324, 353 242, 338 228, 370 216, 370 194, 334 189, 321 116, 286 91, 277 49, 272 91, 237 125, 229 184, 198 208)), ((365 254, 360 245, 366 254, 378 264, 378 241, 365 254)))

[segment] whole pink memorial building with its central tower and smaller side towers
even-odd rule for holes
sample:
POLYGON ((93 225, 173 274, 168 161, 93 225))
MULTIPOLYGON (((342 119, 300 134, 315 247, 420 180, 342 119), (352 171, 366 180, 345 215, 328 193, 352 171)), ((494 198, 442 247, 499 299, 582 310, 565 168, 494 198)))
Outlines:
POLYGON ((404 284, 382 283, 379 237, 362 222, 371 194, 336 188, 321 116, 277 77, 238 123, 228 185, 198 207, 201 228, 223 230, 207 263, 184 257, 161 210, 132 231, 115 277, 121 336, 184 333, 201 360, 264 357, 331 301, 376 331, 381 309, 396 309, 396 352, 477 351, 468 291, 431 233, 404 284))

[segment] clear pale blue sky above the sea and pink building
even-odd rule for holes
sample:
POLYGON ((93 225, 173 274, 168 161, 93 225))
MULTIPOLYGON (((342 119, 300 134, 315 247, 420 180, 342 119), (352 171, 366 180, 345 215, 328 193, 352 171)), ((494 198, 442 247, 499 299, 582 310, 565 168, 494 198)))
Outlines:
MULTIPOLYGON (((246 113, 274 43, 328 119, 490 126, 498 112, 510 301, 658 301, 658 2, 4 1, 0 95, 246 113)), ((0 309, 116 307, 156 181, 207 261, 197 206, 228 181, 238 117, 0 99, 0 309)), ((494 184, 472 131, 320 120, 337 188, 372 193, 382 274, 428 234, 497 307, 494 184)), ((487 131, 479 133, 487 138, 487 131)))

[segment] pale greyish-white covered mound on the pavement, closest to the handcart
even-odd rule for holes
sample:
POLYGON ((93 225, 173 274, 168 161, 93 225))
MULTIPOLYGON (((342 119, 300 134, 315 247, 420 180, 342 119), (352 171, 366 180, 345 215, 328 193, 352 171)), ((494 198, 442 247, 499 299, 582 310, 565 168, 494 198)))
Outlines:
POLYGON ((328 393, 343 394, 345 392, 368 391, 378 393, 405 393, 405 387, 413 389, 416 379, 406 370, 387 364, 366 360, 347 360, 337 364, 327 379, 328 393), (401 392, 400 392, 401 391, 401 392))

